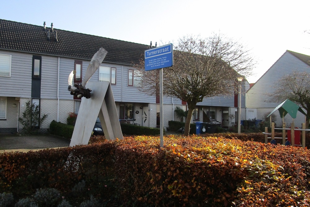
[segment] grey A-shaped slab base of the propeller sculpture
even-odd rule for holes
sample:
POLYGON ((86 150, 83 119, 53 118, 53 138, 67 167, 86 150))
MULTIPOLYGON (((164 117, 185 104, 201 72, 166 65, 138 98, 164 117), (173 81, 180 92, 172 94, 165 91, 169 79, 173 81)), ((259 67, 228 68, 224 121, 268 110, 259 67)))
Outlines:
POLYGON ((113 92, 109 82, 87 82, 91 98, 82 98, 70 146, 88 144, 97 117, 106 139, 122 139, 113 92))

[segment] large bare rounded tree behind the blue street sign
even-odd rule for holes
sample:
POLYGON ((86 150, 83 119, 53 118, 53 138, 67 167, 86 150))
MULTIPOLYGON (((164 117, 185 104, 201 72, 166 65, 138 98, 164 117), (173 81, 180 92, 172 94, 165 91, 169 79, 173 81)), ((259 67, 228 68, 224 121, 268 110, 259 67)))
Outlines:
MULTIPOLYGON (((163 70, 163 93, 186 101, 188 116, 184 135, 188 136, 193 110, 204 97, 231 95, 236 78, 247 76, 255 61, 242 44, 214 34, 210 38, 184 36, 174 45, 173 66, 163 70)), ((148 95, 158 92, 158 70, 141 70, 141 91, 148 95)))

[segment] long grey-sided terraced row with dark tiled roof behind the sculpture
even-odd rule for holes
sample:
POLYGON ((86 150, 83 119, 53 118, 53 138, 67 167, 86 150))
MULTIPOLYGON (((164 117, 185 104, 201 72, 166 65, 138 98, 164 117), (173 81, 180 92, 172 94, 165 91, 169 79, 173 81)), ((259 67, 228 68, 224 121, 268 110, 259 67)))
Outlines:
MULTIPOLYGON (((0 20, 0 133, 21 131, 18 117, 29 100, 48 114, 42 131, 52 120, 66 123, 69 112, 78 113, 81 100, 67 90, 68 76, 76 70, 74 82, 81 82, 100 47, 108 54, 90 81, 110 81, 121 122, 156 127, 159 104, 155 96, 139 92, 141 80, 134 67, 150 46, 55 29, 45 22, 38 26, 0 20)), ((244 81, 243 88, 247 86, 244 81)), ((210 118, 230 126, 237 120, 237 116, 228 119, 229 114, 237 114, 237 96, 204 99, 196 107, 193 122, 210 118)), ((163 103, 166 128, 169 120, 179 120, 173 113, 175 107, 186 110, 186 103, 175 97, 164 97, 163 103)), ((243 95, 241 107, 241 119, 245 119, 243 95)))

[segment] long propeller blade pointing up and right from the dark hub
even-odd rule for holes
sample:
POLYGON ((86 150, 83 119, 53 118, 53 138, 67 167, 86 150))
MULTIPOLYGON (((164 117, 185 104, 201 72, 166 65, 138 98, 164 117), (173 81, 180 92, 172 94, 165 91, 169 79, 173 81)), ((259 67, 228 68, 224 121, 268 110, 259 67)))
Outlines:
POLYGON ((107 51, 104 48, 100 48, 98 52, 91 58, 91 62, 89 63, 84 79, 81 83, 83 87, 85 87, 87 81, 91 78, 91 76, 95 73, 95 71, 99 68, 100 64, 102 63, 103 59, 107 55, 107 51))

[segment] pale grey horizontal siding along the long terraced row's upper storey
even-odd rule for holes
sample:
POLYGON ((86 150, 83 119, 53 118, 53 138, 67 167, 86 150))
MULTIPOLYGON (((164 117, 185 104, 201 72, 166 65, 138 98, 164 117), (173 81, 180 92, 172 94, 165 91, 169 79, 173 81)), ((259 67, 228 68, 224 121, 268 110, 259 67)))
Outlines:
MULTIPOLYGON (((0 51, 1 54, 12 55, 11 77, 0 77, 0 96, 7 97, 31 97, 31 81, 32 81, 32 54, 20 52, 0 51)), ((82 61, 82 77, 89 61, 82 61)), ((112 85, 115 101, 120 102, 137 102, 137 103, 156 103, 155 96, 148 96, 139 91, 138 87, 128 86, 128 69, 130 66, 113 65, 102 63, 101 65, 108 67, 116 67, 117 81, 116 85, 112 85)), ((59 98, 65 100, 73 100, 73 96, 68 92, 68 77, 74 70, 74 59, 60 57, 59 62, 59 98)), ((42 56, 42 77, 41 77, 41 98, 56 99, 57 98, 57 73, 58 73, 58 57, 42 56)), ((98 81, 99 70, 91 77, 90 81, 98 81)), ((178 98, 163 97, 164 104, 180 105, 181 100, 178 98)), ((203 102, 198 103, 199 106, 230 106, 233 107, 234 99, 231 97, 212 97, 205 98, 203 102)), ((244 99, 242 99, 244 104, 244 99)))

